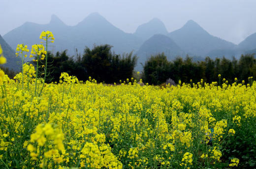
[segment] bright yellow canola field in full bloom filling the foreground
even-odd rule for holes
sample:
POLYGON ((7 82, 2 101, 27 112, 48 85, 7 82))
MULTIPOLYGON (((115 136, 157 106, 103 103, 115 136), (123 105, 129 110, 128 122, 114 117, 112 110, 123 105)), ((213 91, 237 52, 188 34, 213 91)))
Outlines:
POLYGON ((232 142, 255 134, 255 82, 107 85, 62 73, 46 84, 36 71, 25 63, 13 80, 2 76, 1 169, 237 168, 244 159, 232 142))

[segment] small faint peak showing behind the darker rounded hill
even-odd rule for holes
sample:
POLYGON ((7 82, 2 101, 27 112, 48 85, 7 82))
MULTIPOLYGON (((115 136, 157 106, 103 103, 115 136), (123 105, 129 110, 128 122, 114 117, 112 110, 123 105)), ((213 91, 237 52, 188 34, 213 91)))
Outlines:
POLYGON ((167 29, 165 28, 162 21, 158 18, 154 18, 148 23, 140 25, 134 32, 134 35, 145 41, 155 34, 166 35, 167 33, 167 29))

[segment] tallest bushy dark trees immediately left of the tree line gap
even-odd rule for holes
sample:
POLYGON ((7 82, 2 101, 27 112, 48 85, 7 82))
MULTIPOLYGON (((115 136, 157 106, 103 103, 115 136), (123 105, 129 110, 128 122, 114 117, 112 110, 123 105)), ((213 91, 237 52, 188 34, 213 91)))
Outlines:
POLYGON ((114 83, 126 80, 132 76, 137 63, 137 57, 132 52, 123 56, 111 52, 111 46, 95 46, 86 48, 82 57, 82 64, 87 74, 98 82, 114 83))

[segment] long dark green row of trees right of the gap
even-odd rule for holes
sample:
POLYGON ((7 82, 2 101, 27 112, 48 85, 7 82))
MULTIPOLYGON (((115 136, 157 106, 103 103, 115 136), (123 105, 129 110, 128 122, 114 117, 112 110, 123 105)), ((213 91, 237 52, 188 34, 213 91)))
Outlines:
POLYGON ((225 58, 211 59, 206 57, 204 61, 193 62, 192 57, 187 56, 185 59, 177 57, 173 61, 168 61, 162 53, 151 56, 143 66, 143 81, 149 84, 162 84, 166 79, 171 78, 176 83, 181 82, 194 83, 200 82, 219 82, 218 75, 221 74, 222 79, 233 83, 234 78, 238 82, 248 77, 256 77, 256 58, 254 54, 242 55, 239 60, 235 57, 232 60, 225 58))

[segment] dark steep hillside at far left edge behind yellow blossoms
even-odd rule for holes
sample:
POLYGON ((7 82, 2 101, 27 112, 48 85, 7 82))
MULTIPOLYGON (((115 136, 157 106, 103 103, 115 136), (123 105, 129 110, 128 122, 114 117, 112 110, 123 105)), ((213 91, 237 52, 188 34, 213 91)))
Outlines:
POLYGON ((0 45, 3 50, 3 56, 6 57, 7 62, 1 66, 8 67, 15 71, 19 71, 21 68, 21 60, 20 58, 15 56, 15 52, 13 49, 4 41, 4 39, 0 35, 0 45))

